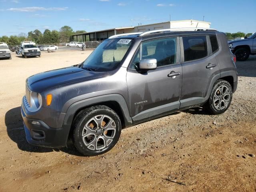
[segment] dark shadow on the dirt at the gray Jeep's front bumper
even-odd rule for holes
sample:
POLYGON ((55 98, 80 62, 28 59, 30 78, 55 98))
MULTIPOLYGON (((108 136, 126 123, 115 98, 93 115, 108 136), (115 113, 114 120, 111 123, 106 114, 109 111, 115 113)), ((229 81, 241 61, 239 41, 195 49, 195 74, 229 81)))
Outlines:
POLYGON ((53 151, 62 151, 67 154, 82 156, 76 148, 72 145, 72 142, 69 140, 67 146, 63 148, 44 148, 33 146, 29 144, 26 140, 26 134, 23 126, 23 120, 20 113, 20 107, 13 108, 6 112, 5 114, 5 125, 7 134, 10 139, 16 142, 18 148, 27 152, 38 152, 38 153, 46 153, 53 151))

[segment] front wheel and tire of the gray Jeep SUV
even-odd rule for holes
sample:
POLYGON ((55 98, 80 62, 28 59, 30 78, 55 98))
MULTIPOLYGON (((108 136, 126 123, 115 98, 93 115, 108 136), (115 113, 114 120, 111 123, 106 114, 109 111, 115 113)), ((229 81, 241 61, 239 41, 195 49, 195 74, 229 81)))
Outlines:
MULTIPOLYGON (((104 105, 93 106, 79 112, 76 115, 76 118, 74 119, 72 128, 73 128, 72 139, 73 139, 74 145, 76 146, 76 149, 80 153, 82 153, 84 156, 96 156, 96 155, 100 155, 108 152, 118 142, 121 134, 121 129, 122 129, 119 116, 112 109, 104 105), (108 131, 103 131, 105 128, 104 126, 102 128, 98 128, 97 123, 96 123, 96 126, 92 125, 95 123, 95 121, 92 120, 92 118, 94 117, 97 117, 97 118, 100 117, 99 121, 101 122, 100 123, 101 126, 102 126, 102 122, 105 122, 106 123, 105 125, 108 125, 108 126, 110 125, 112 127, 112 124, 114 122, 115 131, 113 136, 111 136, 112 141, 110 140, 106 141, 108 139, 106 138, 106 134, 108 134, 108 131), (109 117, 113 121, 111 120, 106 122, 106 120, 104 121, 105 117, 109 117), (90 133, 90 135, 82 139, 82 133, 84 133, 85 135, 88 134, 88 131, 86 130, 86 132, 84 132, 84 129, 85 128, 88 129, 89 127, 91 128, 90 132, 92 133, 90 133), (100 134, 101 135, 103 134, 103 135, 100 136, 100 134), (106 140, 102 140, 101 137, 104 137, 106 140), (91 140, 88 141, 88 144, 87 144, 88 146, 86 146, 86 142, 87 142, 86 139, 88 138, 91 140), (96 140, 96 144, 94 144, 95 143, 93 142, 94 140, 96 140), (107 144, 107 142, 109 141, 110 143, 107 144), (104 143, 103 148, 100 148, 99 150, 97 150, 98 142, 104 143)), ((110 130, 110 134, 112 134, 111 130, 110 130)))

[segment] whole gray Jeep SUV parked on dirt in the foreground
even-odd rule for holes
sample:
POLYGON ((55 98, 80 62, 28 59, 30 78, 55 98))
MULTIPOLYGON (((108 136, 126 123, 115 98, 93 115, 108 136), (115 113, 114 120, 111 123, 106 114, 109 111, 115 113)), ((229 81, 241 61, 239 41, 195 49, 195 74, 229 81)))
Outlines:
POLYGON ((59 148, 71 138, 94 156, 134 124, 202 105, 221 114, 237 87, 234 60, 225 34, 214 30, 113 36, 84 62, 26 80, 26 139, 59 148))

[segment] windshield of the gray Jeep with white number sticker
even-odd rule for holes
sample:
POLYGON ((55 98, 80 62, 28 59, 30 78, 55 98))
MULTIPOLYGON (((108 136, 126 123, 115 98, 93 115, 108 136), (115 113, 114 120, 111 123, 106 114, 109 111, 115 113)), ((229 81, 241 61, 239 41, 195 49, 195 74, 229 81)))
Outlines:
POLYGON ((132 43, 131 39, 106 40, 90 54, 81 67, 98 72, 111 71, 120 64, 132 43))

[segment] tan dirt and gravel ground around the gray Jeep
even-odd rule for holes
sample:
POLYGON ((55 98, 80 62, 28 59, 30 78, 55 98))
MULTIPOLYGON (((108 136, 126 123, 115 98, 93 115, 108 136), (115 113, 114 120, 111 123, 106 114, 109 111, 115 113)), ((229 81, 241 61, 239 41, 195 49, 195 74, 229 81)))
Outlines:
POLYGON ((82 62, 90 51, 0 60, 0 192, 256 192, 256 56, 237 62, 230 108, 195 108, 122 130, 110 152, 83 157, 26 142, 20 103, 28 76, 82 62))

